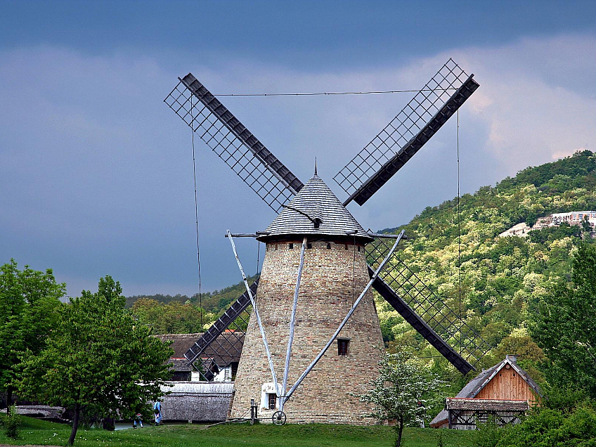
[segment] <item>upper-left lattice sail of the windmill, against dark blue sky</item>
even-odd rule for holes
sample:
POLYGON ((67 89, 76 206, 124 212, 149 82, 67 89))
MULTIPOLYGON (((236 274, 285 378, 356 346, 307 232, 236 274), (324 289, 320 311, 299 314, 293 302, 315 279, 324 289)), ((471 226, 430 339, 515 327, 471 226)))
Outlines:
POLYGON ((279 213, 303 184, 193 74, 164 99, 221 160, 279 213))

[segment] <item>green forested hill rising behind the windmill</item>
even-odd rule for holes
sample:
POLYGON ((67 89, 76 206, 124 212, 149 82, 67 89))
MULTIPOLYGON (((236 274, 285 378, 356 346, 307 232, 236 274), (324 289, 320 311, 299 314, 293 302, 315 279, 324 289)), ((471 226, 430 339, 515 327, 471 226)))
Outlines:
MULTIPOLYGON (((536 348, 526 332, 528 312, 555 278, 569 276, 571 257, 582 240, 581 228, 552 227, 533 231, 526 239, 498 238, 498 235, 514 224, 536 221, 553 212, 596 209, 595 190, 596 157, 585 150, 563 160, 519 171, 513 178, 507 177, 496 186, 484 186, 473 195, 463 195, 459 226, 455 197, 437 207, 425 208, 405 226, 384 231, 406 230, 411 239, 401 245, 401 259, 456 309, 460 306, 460 281, 462 315, 481 332, 486 342, 500 345, 500 351, 505 350, 507 344, 522 343, 524 346, 509 347, 531 353, 536 348)), ((214 318, 242 292, 244 285, 239 283, 203 294, 203 307, 214 318)), ((196 309, 198 301, 196 295, 149 298, 160 302, 178 301, 174 306, 177 313, 184 311, 182 306, 186 306, 186 311, 191 307, 196 309)), ((164 304, 160 306, 162 311, 155 315, 165 314, 164 304)), ((425 352, 432 355, 425 351, 425 344, 413 329, 387 304, 379 302, 377 309, 389 346, 405 345, 421 356, 425 352)), ((187 323, 162 325, 162 330, 193 332, 200 329, 194 323, 187 323)), ((156 325, 154 327, 157 329, 156 325)), ((500 351, 495 356, 500 356, 500 351)), ((493 359, 487 358, 487 363, 491 361, 493 359)))

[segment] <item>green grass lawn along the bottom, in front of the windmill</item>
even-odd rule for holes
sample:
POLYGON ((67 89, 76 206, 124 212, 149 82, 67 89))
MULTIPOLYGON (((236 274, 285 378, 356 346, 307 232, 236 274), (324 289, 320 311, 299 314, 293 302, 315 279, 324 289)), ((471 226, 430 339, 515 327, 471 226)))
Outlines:
MULTIPOLYGON (((23 417, 16 441, 0 432, 0 444, 64 446, 70 427, 23 417)), ((472 447, 476 434, 441 430, 443 446, 472 447)), ((404 429, 405 447, 436 447, 439 430, 404 429)), ((142 429, 108 432, 103 429, 79 429, 74 446, 147 446, 147 447, 236 447, 236 446, 393 446, 394 429, 382 426, 352 425, 248 425, 226 424, 164 425, 142 429)))

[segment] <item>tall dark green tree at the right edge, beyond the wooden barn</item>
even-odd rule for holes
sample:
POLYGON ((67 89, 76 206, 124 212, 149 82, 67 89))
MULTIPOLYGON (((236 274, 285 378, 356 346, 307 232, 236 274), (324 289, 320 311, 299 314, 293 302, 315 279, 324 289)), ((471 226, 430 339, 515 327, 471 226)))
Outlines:
POLYGON ((550 359, 547 379, 584 388, 596 398, 596 248, 583 245, 573 261, 573 283, 558 283, 533 316, 531 335, 550 359))

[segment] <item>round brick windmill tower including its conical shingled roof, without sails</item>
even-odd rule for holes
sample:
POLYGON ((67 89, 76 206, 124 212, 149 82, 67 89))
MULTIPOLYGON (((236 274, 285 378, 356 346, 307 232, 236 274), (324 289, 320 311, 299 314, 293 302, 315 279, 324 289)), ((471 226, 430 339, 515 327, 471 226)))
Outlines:
MULTIPOLYGON (((264 231, 266 253, 257 290, 271 357, 284 370, 294 285, 306 238, 304 268, 297 300, 289 383, 298 380, 334 334, 369 281, 365 245, 372 241, 356 219, 316 174, 264 231)), ((368 408, 351 392, 363 393, 377 374, 383 339, 368 291, 339 332, 335 344, 285 403, 290 422, 363 423, 368 408)), ((281 381, 280 381, 281 382, 281 381)), ((280 408, 254 314, 250 318, 235 380, 231 417, 259 401, 259 416, 280 408)))

